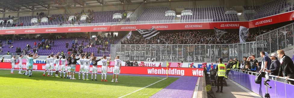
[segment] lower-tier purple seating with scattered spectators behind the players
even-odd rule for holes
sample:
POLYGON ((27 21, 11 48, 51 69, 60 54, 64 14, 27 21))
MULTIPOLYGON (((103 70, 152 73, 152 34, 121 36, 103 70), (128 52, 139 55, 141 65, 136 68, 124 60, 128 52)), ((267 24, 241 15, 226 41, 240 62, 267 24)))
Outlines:
MULTIPOLYGON (((98 49, 95 46, 101 47, 101 49, 100 49, 101 51, 108 51, 108 50, 110 50, 112 40, 113 40, 113 43, 117 43, 120 40, 120 38, 110 39, 110 38, 106 37, 106 38, 102 38, 101 43, 103 43, 103 40, 104 40, 105 42, 107 41, 108 44, 105 44, 105 42, 104 42, 104 44, 94 45, 95 44, 95 38, 92 38, 91 42, 92 42, 93 46, 92 46, 92 48, 88 48, 89 47, 89 44, 88 44, 89 39, 86 39, 86 38, 60 38, 60 39, 54 40, 54 46, 52 46, 51 49, 47 50, 47 49, 38 48, 38 51, 39 51, 38 54, 39 55, 49 55, 52 52, 58 53, 58 52, 61 52, 62 50, 66 54, 67 53, 67 48, 66 48, 65 43, 68 42, 69 43, 68 48, 71 48, 72 41, 75 40, 75 39, 78 40, 78 45, 80 45, 82 43, 82 41, 84 40, 83 52, 91 52, 91 53, 94 52, 94 54, 95 54, 94 56, 103 56, 103 55, 109 55, 110 54, 110 52, 100 52, 100 54, 97 54, 98 49), (102 47, 105 47, 106 49, 102 50, 102 47)), ((13 48, 9 48, 10 47, 9 44, 4 45, 4 46, 2 46, 3 52, 8 52, 9 51, 11 53, 16 53, 16 47, 20 47, 21 50, 22 50, 22 49, 26 49, 27 44, 29 44, 31 46, 31 48, 27 51, 29 53, 29 52, 33 52, 34 42, 36 42, 37 45, 42 44, 42 39, 41 40, 39 40, 39 39, 19 39, 19 40, 11 39, 11 40, 14 40, 11 43, 11 45, 13 45, 13 48)), ((44 40, 46 40, 46 39, 44 39, 44 40)), ((5 40, 2 40, 2 41, 3 41, 2 42, 3 44, 6 44, 5 40)), ((97 41, 97 43, 99 43, 98 41, 97 41)), ((46 44, 44 43, 44 45, 46 45, 46 44)), ((78 48, 76 48, 76 50, 78 50, 78 48)), ((21 51, 21 53, 23 53, 23 51, 21 51)))

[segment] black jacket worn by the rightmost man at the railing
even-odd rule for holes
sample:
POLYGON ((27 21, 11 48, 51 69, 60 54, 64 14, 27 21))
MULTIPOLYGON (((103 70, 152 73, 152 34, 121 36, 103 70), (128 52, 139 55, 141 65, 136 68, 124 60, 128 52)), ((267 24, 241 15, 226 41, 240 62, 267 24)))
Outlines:
POLYGON ((283 55, 281 59, 282 61, 280 61, 281 65, 280 65, 278 76, 282 76, 282 72, 284 72, 285 77, 287 77, 288 74, 294 74, 294 64, 292 59, 287 55, 283 55))

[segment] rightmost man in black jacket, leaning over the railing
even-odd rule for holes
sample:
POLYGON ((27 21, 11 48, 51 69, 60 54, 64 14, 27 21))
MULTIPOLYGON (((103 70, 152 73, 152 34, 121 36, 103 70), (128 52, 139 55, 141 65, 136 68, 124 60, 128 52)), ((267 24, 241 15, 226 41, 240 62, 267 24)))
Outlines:
MULTIPOLYGON (((285 55, 285 52, 283 50, 278 50, 277 55, 279 58, 281 58, 278 78, 282 77, 284 72, 286 80, 288 80, 288 78, 294 79, 294 64, 292 59, 289 56, 285 55)), ((294 84, 294 81, 288 80, 288 82, 289 84, 294 84)))

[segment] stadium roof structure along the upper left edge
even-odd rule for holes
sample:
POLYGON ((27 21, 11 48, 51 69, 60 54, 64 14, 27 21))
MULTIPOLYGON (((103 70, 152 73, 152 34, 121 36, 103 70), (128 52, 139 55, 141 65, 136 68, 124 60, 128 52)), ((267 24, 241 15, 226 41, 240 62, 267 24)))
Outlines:
POLYGON ((44 10, 63 6, 79 7, 136 2, 144 2, 144 0, 0 0, 0 12, 44 10))

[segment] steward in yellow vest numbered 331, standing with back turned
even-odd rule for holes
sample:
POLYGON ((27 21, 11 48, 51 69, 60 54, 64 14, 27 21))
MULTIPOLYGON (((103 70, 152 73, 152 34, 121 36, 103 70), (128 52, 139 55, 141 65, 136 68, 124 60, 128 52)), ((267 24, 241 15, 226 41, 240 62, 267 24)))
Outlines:
POLYGON ((217 71, 217 91, 223 93, 223 79, 225 77, 225 72, 226 72, 226 65, 224 65, 223 58, 219 58, 220 64, 216 65, 216 71, 217 71), (219 85, 220 82, 220 85, 219 85))

